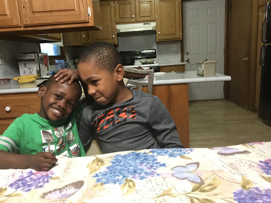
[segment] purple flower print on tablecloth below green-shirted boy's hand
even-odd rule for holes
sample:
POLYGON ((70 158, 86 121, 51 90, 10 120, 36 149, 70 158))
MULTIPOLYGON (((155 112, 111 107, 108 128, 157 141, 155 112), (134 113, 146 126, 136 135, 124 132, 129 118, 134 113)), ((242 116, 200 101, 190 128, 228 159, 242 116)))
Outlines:
POLYGON ((33 173, 33 171, 30 170, 20 175, 9 187, 19 189, 23 192, 29 192, 32 189, 42 188, 45 183, 50 181, 49 178, 53 177, 51 176, 53 174, 53 171, 35 171, 33 173))

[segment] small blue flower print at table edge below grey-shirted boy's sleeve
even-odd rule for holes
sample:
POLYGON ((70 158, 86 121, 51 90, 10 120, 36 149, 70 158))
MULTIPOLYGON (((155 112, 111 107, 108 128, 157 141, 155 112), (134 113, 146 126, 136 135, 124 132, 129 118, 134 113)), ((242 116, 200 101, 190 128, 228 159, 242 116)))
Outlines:
POLYGON ((190 152, 192 152, 194 149, 182 149, 182 148, 178 148, 178 149, 152 149, 150 150, 151 153, 155 154, 156 156, 168 156, 168 157, 174 157, 176 158, 177 156, 183 156, 186 154, 190 154, 190 152))

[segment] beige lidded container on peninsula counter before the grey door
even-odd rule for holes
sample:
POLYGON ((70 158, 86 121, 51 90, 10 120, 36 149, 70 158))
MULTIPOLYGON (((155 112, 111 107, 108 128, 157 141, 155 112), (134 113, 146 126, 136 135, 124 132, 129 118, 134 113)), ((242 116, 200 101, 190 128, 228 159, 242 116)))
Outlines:
POLYGON ((215 76, 216 74, 216 61, 197 61, 197 75, 198 76, 215 76))

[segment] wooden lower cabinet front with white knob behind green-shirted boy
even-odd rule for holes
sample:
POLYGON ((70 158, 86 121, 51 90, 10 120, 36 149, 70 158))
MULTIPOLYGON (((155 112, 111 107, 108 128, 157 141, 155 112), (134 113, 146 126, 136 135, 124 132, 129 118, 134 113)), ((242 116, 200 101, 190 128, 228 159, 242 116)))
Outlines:
POLYGON ((40 98, 37 93, 0 94, 0 135, 24 113, 37 113, 40 109, 40 98), (5 108, 9 106, 10 111, 5 108))

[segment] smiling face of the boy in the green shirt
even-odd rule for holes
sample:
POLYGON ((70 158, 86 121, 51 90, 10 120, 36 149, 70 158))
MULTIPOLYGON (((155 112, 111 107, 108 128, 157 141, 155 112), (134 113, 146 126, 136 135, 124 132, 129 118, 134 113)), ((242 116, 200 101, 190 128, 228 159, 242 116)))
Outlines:
POLYGON ((81 97, 79 85, 75 82, 52 82, 38 89, 38 97, 42 98, 38 115, 44 119, 58 121, 68 117, 81 97))

